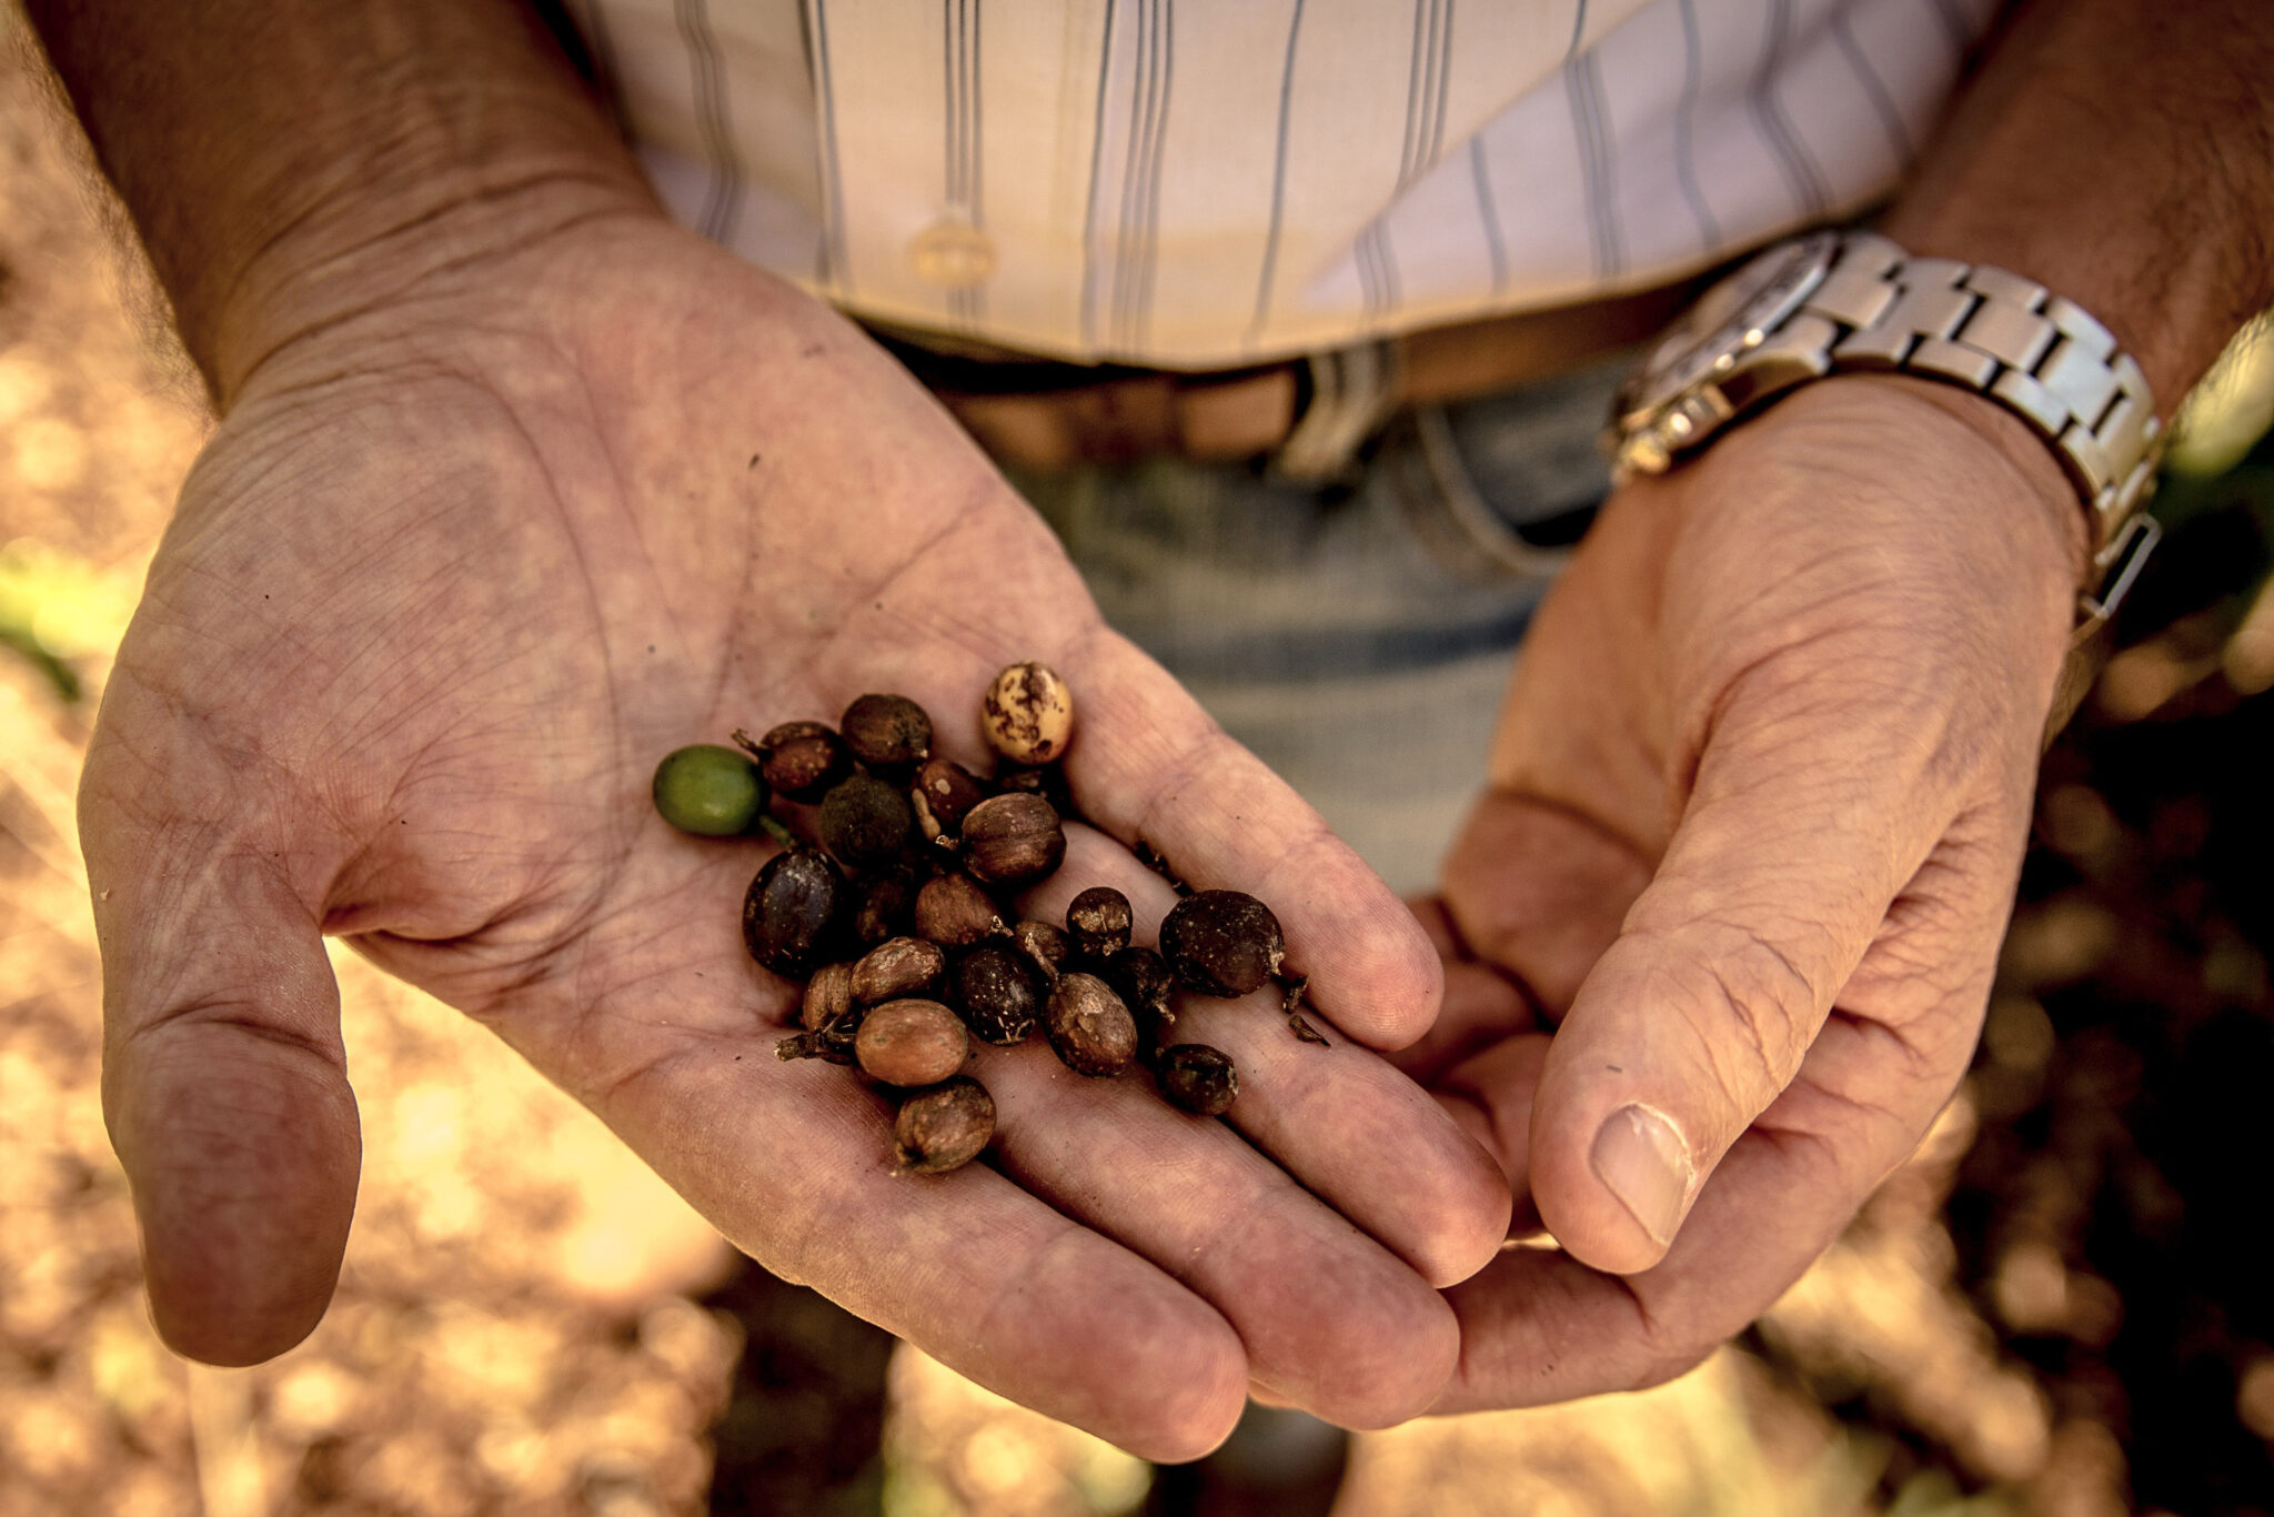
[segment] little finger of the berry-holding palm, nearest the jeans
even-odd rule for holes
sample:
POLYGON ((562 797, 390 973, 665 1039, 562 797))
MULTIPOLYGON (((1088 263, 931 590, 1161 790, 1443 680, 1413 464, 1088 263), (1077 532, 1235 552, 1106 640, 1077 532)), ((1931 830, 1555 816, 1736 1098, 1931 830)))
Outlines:
POLYGON ((1326 821, 1210 721, 1153 660, 1101 632, 1067 771, 1089 821, 1151 844, 1196 889, 1244 889, 1280 919, 1292 973, 1351 1037, 1410 1044, 1442 971, 1412 912, 1326 821))

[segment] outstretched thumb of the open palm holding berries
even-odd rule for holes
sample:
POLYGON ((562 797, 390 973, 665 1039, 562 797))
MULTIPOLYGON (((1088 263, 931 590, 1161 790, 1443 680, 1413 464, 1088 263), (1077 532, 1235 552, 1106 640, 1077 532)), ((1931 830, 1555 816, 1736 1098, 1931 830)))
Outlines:
POLYGON ((355 1215, 339 987, 316 912, 246 832, 259 812, 241 787, 184 805, 182 769, 150 782, 134 766, 139 794, 123 769, 118 744, 98 748, 80 791, 102 1112, 159 1333, 189 1358, 252 1365, 323 1317, 355 1215))

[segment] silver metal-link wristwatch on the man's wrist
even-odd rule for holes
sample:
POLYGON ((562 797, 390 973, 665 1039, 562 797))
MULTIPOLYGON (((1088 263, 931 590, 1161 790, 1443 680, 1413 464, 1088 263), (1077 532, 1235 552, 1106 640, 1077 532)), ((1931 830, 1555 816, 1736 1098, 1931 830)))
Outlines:
POLYGON ((1662 473, 1737 416, 1831 373, 1962 384, 2022 416, 2092 519, 2076 644, 2099 632, 2160 537, 2140 507, 2163 423, 2140 366, 2099 321, 2042 284, 1910 257, 1874 232, 1810 232, 1715 284, 1619 389, 1617 473, 1662 473))

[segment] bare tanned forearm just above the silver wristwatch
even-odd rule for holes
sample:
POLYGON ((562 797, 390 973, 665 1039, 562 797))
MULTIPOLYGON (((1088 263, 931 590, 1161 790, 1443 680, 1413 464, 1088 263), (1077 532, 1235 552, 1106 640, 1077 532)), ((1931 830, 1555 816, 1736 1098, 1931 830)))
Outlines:
POLYGON ((2165 414, 2274 300, 2274 7, 2024 5, 1887 234, 2099 316, 2165 414))

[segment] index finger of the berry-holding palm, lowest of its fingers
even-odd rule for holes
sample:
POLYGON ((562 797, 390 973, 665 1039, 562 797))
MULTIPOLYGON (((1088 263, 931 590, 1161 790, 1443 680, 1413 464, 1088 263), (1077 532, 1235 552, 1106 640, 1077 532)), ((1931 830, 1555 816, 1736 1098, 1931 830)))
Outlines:
POLYGON ((894 1174, 889 1096, 782 1064, 778 1035, 696 1039, 589 1103, 760 1265, 971 1381, 1151 1460, 1223 1442, 1248 1358, 1221 1312, 985 1162, 894 1174))

